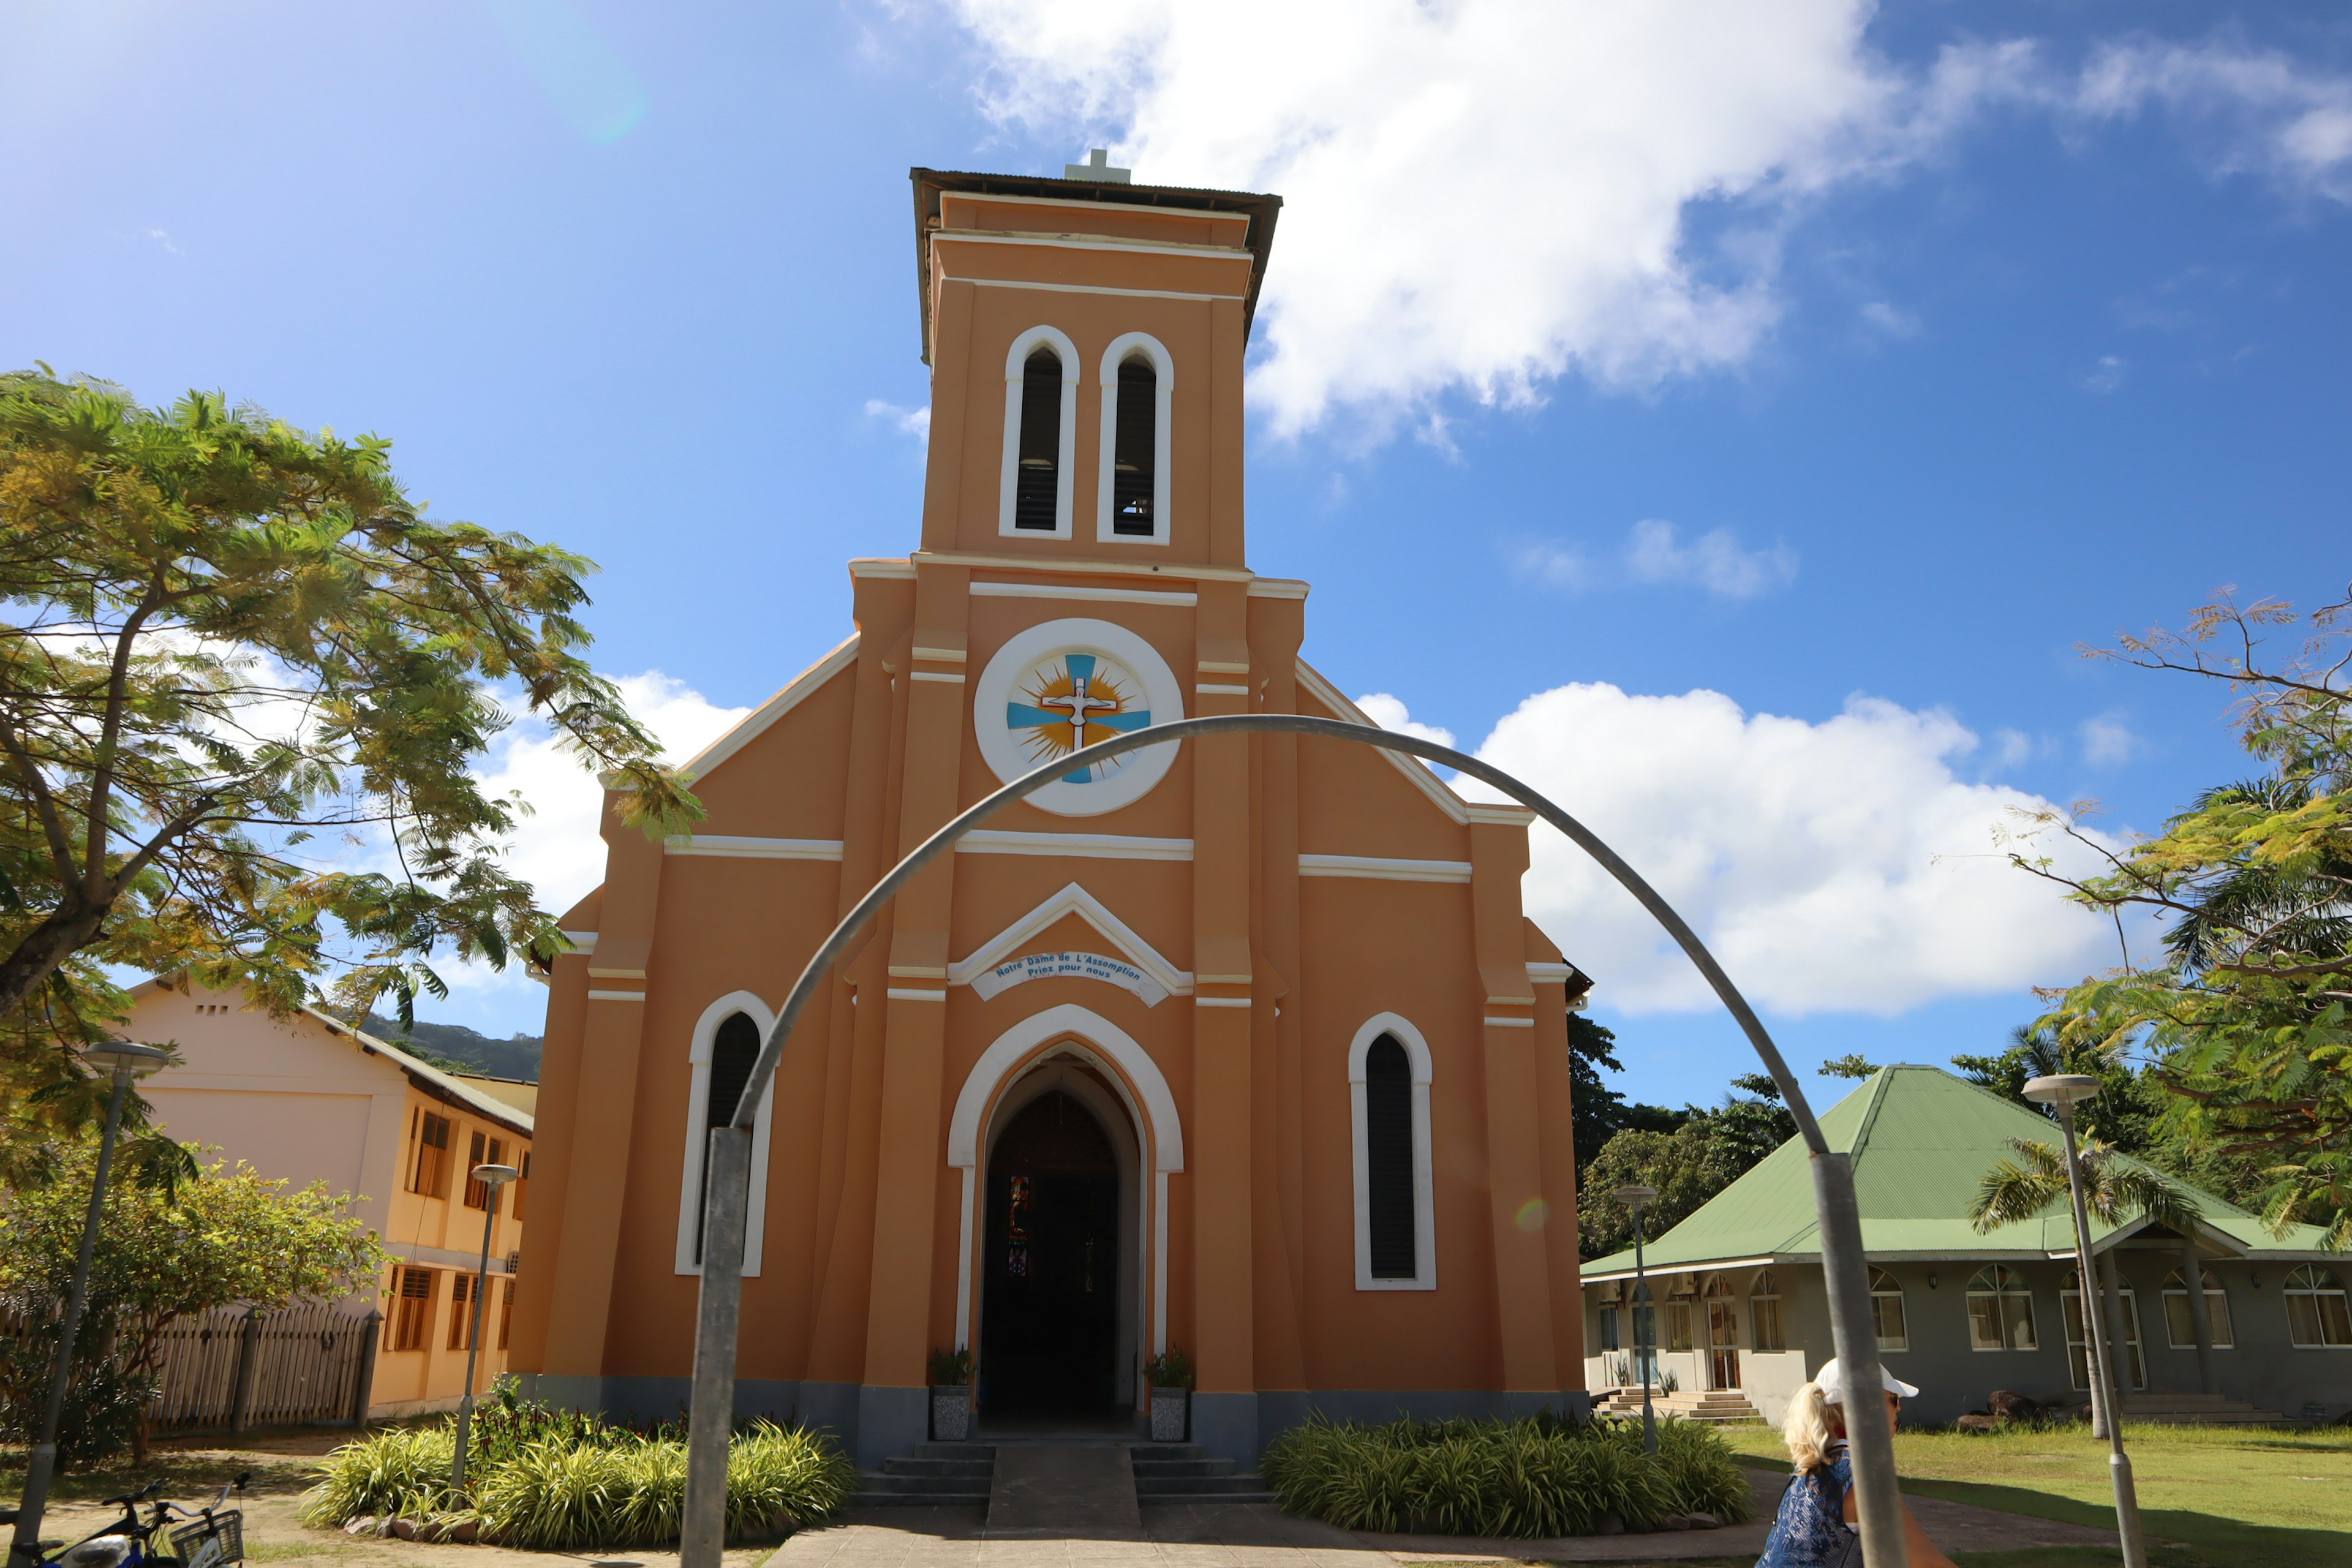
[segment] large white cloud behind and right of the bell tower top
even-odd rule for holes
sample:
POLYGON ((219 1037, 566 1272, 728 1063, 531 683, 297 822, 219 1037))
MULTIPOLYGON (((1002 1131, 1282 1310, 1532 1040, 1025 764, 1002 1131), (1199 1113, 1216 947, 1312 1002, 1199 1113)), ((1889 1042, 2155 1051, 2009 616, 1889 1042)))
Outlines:
MULTIPOLYGON (((2352 82, 2227 42, 2032 40, 1917 71, 1870 0, 943 0, 1004 125, 1110 141, 1143 181, 1277 190, 1256 407, 1449 449, 1432 397, 1526 404, 1748 360, 1804 202, 1893 179, 1990 110, 2096 129, 2161 108, 2209 162, 2352 200, 2352 82), (1240 40, 1240 42, 1237 42, 1240 40), (1108 136, 1105 136, 1108 132, 1108 136), (1708 207, 1719 240, 1696 242, 1708 207)), ((1884 301, 1863 317, 1903 336, 1884 301)))

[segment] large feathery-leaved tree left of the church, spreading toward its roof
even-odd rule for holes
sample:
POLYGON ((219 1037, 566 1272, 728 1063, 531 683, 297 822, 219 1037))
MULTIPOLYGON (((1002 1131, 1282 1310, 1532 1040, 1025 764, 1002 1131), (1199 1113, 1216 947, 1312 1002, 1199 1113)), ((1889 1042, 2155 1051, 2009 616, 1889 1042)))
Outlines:
POLYGON ((0 376, 0 1048, 52 1058, 14 1112, 120 1016, 106 966, 407 1018, 435 957, 557 952, 503 865, 529 806, 470 771, 501 686, 628 820, 701 816, 581 656, 590 562, 428 520, 388 451, 0 376))

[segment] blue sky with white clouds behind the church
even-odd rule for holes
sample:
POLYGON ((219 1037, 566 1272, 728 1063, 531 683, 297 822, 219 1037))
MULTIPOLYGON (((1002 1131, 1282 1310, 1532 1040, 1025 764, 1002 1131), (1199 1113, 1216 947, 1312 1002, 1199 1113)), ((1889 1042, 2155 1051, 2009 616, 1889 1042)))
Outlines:
MULTIPOLYGON (((1249 527, 1308 656, 1590 804, 1795 1060, 1990 1048, 2114 945, 1987 823, 2241 766, 2077 644, 2347 578, 2352 21, 1637 12, 9 5, 0 355, 390 435, 602 562, 600 663, 691 743, 913 545, 908 165, 1279 190, 1249 527)), ((1740 1070, 1606 893, 1538 856, 1531 905, 1630 1091, 1740 1070)))

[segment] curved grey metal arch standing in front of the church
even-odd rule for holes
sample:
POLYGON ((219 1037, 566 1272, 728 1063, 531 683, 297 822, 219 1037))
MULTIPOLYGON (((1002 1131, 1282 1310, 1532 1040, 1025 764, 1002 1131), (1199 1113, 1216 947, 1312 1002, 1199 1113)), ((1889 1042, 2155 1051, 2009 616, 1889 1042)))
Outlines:
MULTIPOLYGON (((1376 745, 1381 750, 1406 752, 1425 762, 1437 762, 1501 790, 1522 806, 1529 806, 1536 816, 1566 835, 1571 844, 1599 860, 1602 870, 1616 877, 1618 884, 1632 893, 1661 926, 1665 926, 1668 936, 1672 936, 1682 952, 1689 954, 1691 964, 1698 966, 1698 973, 1705 976, 1717 999, 1738 1020, 1740 1032, 1748 1034, 1748 1044, 1755 1046, 1755 1053, 1764 1063, 1764 1072, 1771 1074, 1773 1086, 1780 1088, 1780 1100, 1797 1121, 1797 1135, 1804 1140, 1813 1161, 1813 1206, 1820 1218, 1820 1265, 1830 1286, 1830 1340, 1837 1349, 1837 1363, 1846 1371, 1849 1387, 1875 1387, 1879 1382, 1879 1347, 1870 1328, 1870 1281, 1863 1272, 1863 1225, 1860 1211, 1853 1201, 1853 1168, 1846 1164, 1846 1154, 1830 1150, 1830 1143, 1820 1133, 1820 1121, 1813 1119, 1813 1107, 1804 1098, 1804 1088, 1797 1084, 1797 1074, 1790 1072, 1780 1048, 1764 1030, 1764 1020, 1757 1018, 1755 1009, 1748 1006, 1748 999, 1736 985, 1731 985, 1731 976, 1724 973, 1722 964, 1715 961, 1715 954, 1698 940, 1698 933, 1684 924, 1675 907, 1668 905, 1665 898, 1661 898, 1658 891, 1639 877, 1639 872, 1625 865, 1613 849, 1602 844, 1590 827, 1503 769, 1479 762, 1468 752, 1458 752, 1451 745, 1423 741, 1421 736, 1371 729, 1345 719, 1315 719, 1296 712, 1230 712, 1152 724, 1124 736, 1112 736, 1110 741, 1096 741, 1094 745, 1084 745, 1016 778, 995 795, 967 806, 946 827, 917 844, 856 903, 854 910, 849 910, 849 914, 842 917, 842 924, 833 929, 833 936, 818 945, 807 966, 800 971, 800 978, 793 983, 793 994, 786 997, 783 1009, 776 1013, 776 1025, 767 1032, 767 1041, 760 1046, 760 1058, 753 1063, 750 1079, 743 1084, 743 1095, 736 1100, 729 1126, 746 1138, 750 1135, 760 1095, 767 1093, 769 1079, 776 1077, 776 1065, 783 1060, 783 1046, 793 1037, 793 1025, 800 1020, 800 1013, 809 1006, 809 997, 816 994, 818 983, 833 971, 833 964, 866 931, 875 914, 882 912, 882 905, 896 898, 924 865, 955 849, 957 839, 988 818, 1021 799, 1028 799, 1037 790, 1044 790, 1077 769, 1110 762, 1148 745, 1169 745, 1195 736, 1324 736, 1329 741, 1376 745)), ((720 1190, 722 1185, 713 1182, 710 1194, 703 1199, 706 1267, 701 1319, 694 1340, 694 1422, 691 1439, 687 1443, 687 1530, 682 1540, 682 1568, 720 1568, 720 1530, 713 1528, 713 1523, 722 1516, 727 1500, 724 1432, 734 1403, 734 1349, 741 1321, 741 1288, 727 1281, 727 1269, 713 1272, 708 1260, 713 1251, 717 1251, 720 1258, 743 1255, 743 1222, 748 1206, 722 1201, 720 1190), (713 1408, 706 1410, 706 1406, 713 1408)), ((1846 1439, 1853 1446, 1853 1490, 1863 1526, 1863 1554, 1875 1568, 1907 1568, 1910 1554, 1903 1542, 1903 1497, 1896 1493, 1893 1427, 1877 1420, 1853 1425, 1858 1429, 1851 1429, 1846 1439)))

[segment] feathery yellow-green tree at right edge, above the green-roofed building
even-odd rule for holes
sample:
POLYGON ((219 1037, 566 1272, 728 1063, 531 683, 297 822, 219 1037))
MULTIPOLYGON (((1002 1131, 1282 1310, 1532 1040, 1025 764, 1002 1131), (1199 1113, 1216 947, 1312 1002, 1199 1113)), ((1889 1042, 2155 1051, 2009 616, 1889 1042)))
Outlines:
POLYGON ((2065 990, 2042 1027, 2067 1053, 2138 1053, 2176 1126, 2263 1173, 2272 1227, 2307 1220, 2352 1246, 2352 599, 2305 621, 2225 595, 2185 632, 2096 654, 2223 682, 2263 773, 2206 790, 2124 849, 2074 813, 2037 823, 2105 870, 2070 877, 2025 851, 2016 865, 2112 914, 2119 933, 2136 912, 2164 924, 2159 954, 2065 990), (2274 628, 2303 630, 2277 661, 2263 649, 2274 628))

